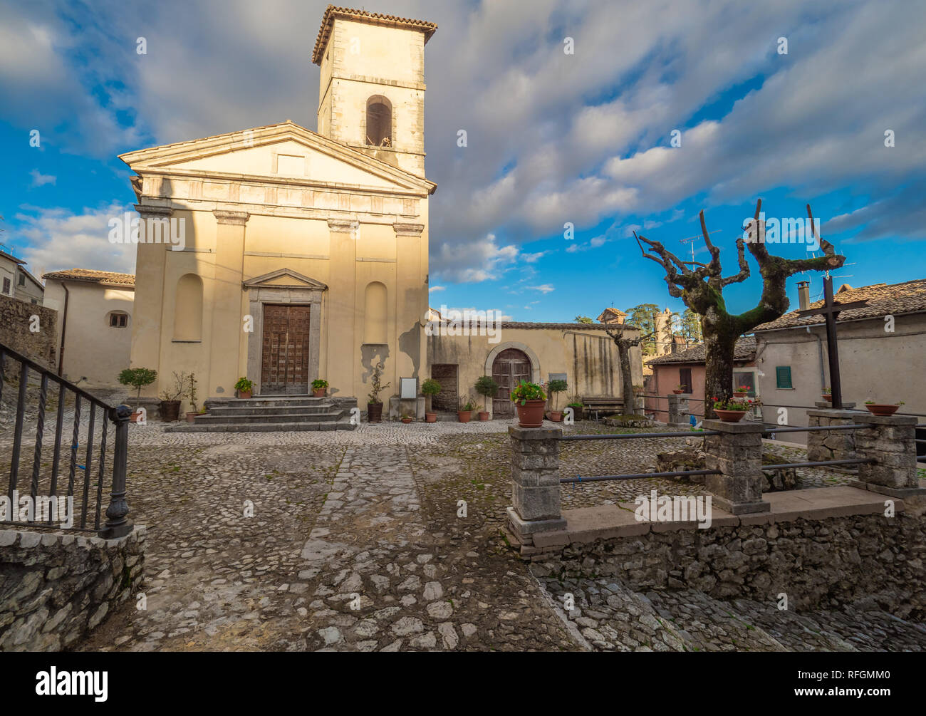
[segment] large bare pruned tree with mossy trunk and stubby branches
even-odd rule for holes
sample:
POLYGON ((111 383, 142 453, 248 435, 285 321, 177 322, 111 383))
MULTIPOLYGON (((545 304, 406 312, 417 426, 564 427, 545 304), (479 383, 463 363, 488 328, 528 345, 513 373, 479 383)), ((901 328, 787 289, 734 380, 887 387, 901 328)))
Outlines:
POLYGON ((644 257, 656 261, 666 270, 669 295, 681 298, 685 306, 701 317, 701 329, 707 351, 707 375, 705 380, 705 418, 714 417, 711 397, 729 398, 733 389, 733 351, 737 339, 749 333, 760 323, 781 317, 790 305, 785 291, 785 282, 798 271, 823 271, 838 269, 845 263, 845 257, 836 254, 830 242, 817 236, 810 205, 807 217, 813 235, 820 242, 823 256, 818 258, 782 258, 772 256, 765 245, 765 222, 759 220, 762 200, 756 203, 755 218, 744 227, 747 238, 736 240, 739 272, 724 277, 720 270, 720 248, 713 245, 707 233, 704 211, 701 211, 701 232, 710 252, 710 261, 682 261, 657 241, 650 241, 634 232, 644 257), (644 244, 646 248, 644 249, 644 244), (723 289, 731 283, 743 283, 749 278, 749 264, 745 249, 756 259, 762 275, 762 296, 756 308, 745 313, 732 314, 723 301, 723 289), (689 268, 691 267, 691 268, 689 268))

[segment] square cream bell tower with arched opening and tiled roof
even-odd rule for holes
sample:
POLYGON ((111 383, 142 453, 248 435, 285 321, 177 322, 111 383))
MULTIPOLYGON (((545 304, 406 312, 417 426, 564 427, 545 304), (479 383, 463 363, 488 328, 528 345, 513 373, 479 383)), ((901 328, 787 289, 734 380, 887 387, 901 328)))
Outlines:
POLYGON ((424 45, 437 25, 328 6, 312 61, 321 68, 319 134, 424 176, 424 45))

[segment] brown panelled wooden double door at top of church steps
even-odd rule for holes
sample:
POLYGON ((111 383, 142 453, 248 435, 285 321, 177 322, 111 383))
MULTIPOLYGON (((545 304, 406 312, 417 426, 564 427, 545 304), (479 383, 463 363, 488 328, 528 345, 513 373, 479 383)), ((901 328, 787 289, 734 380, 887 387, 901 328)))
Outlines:
POLYGON ((309 319, 308 306, 264 305, 261 395, 307 395, 309 319))

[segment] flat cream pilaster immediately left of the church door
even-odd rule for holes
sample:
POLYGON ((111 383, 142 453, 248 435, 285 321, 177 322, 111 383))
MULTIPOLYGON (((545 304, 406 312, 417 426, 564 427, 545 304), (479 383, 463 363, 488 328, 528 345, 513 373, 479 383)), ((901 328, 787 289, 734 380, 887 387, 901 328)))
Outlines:
MULTIPOLYGON (((250 218, 246 211, 212 212, 218 227, 216 231, 215 282, 212 291, 212 345, 209 348, 209 383, 203 397, 220 391, 234 395, 234 384, 246 371, 247 359, 242 359, 244 343, 242 303, 244 298, 244 224, 250 218)), ((205 296, 204 296, 205 298, 205 296)), ((204 331, 204 335, 205 335, 204 331)), ((257 382, 257 377, 248 378, 257 382)))

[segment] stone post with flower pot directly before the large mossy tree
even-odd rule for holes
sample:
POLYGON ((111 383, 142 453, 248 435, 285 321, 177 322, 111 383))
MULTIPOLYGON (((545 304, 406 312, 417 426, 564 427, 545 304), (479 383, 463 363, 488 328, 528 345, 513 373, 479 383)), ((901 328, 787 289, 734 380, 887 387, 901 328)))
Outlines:
POLYGON ((720 432, 704 439, 705 467, 720 470, 704 483, 714 504, 733 515, 768 512, 771 506, 762 500, 762 423, 704 421, 704 429, 720 432))

